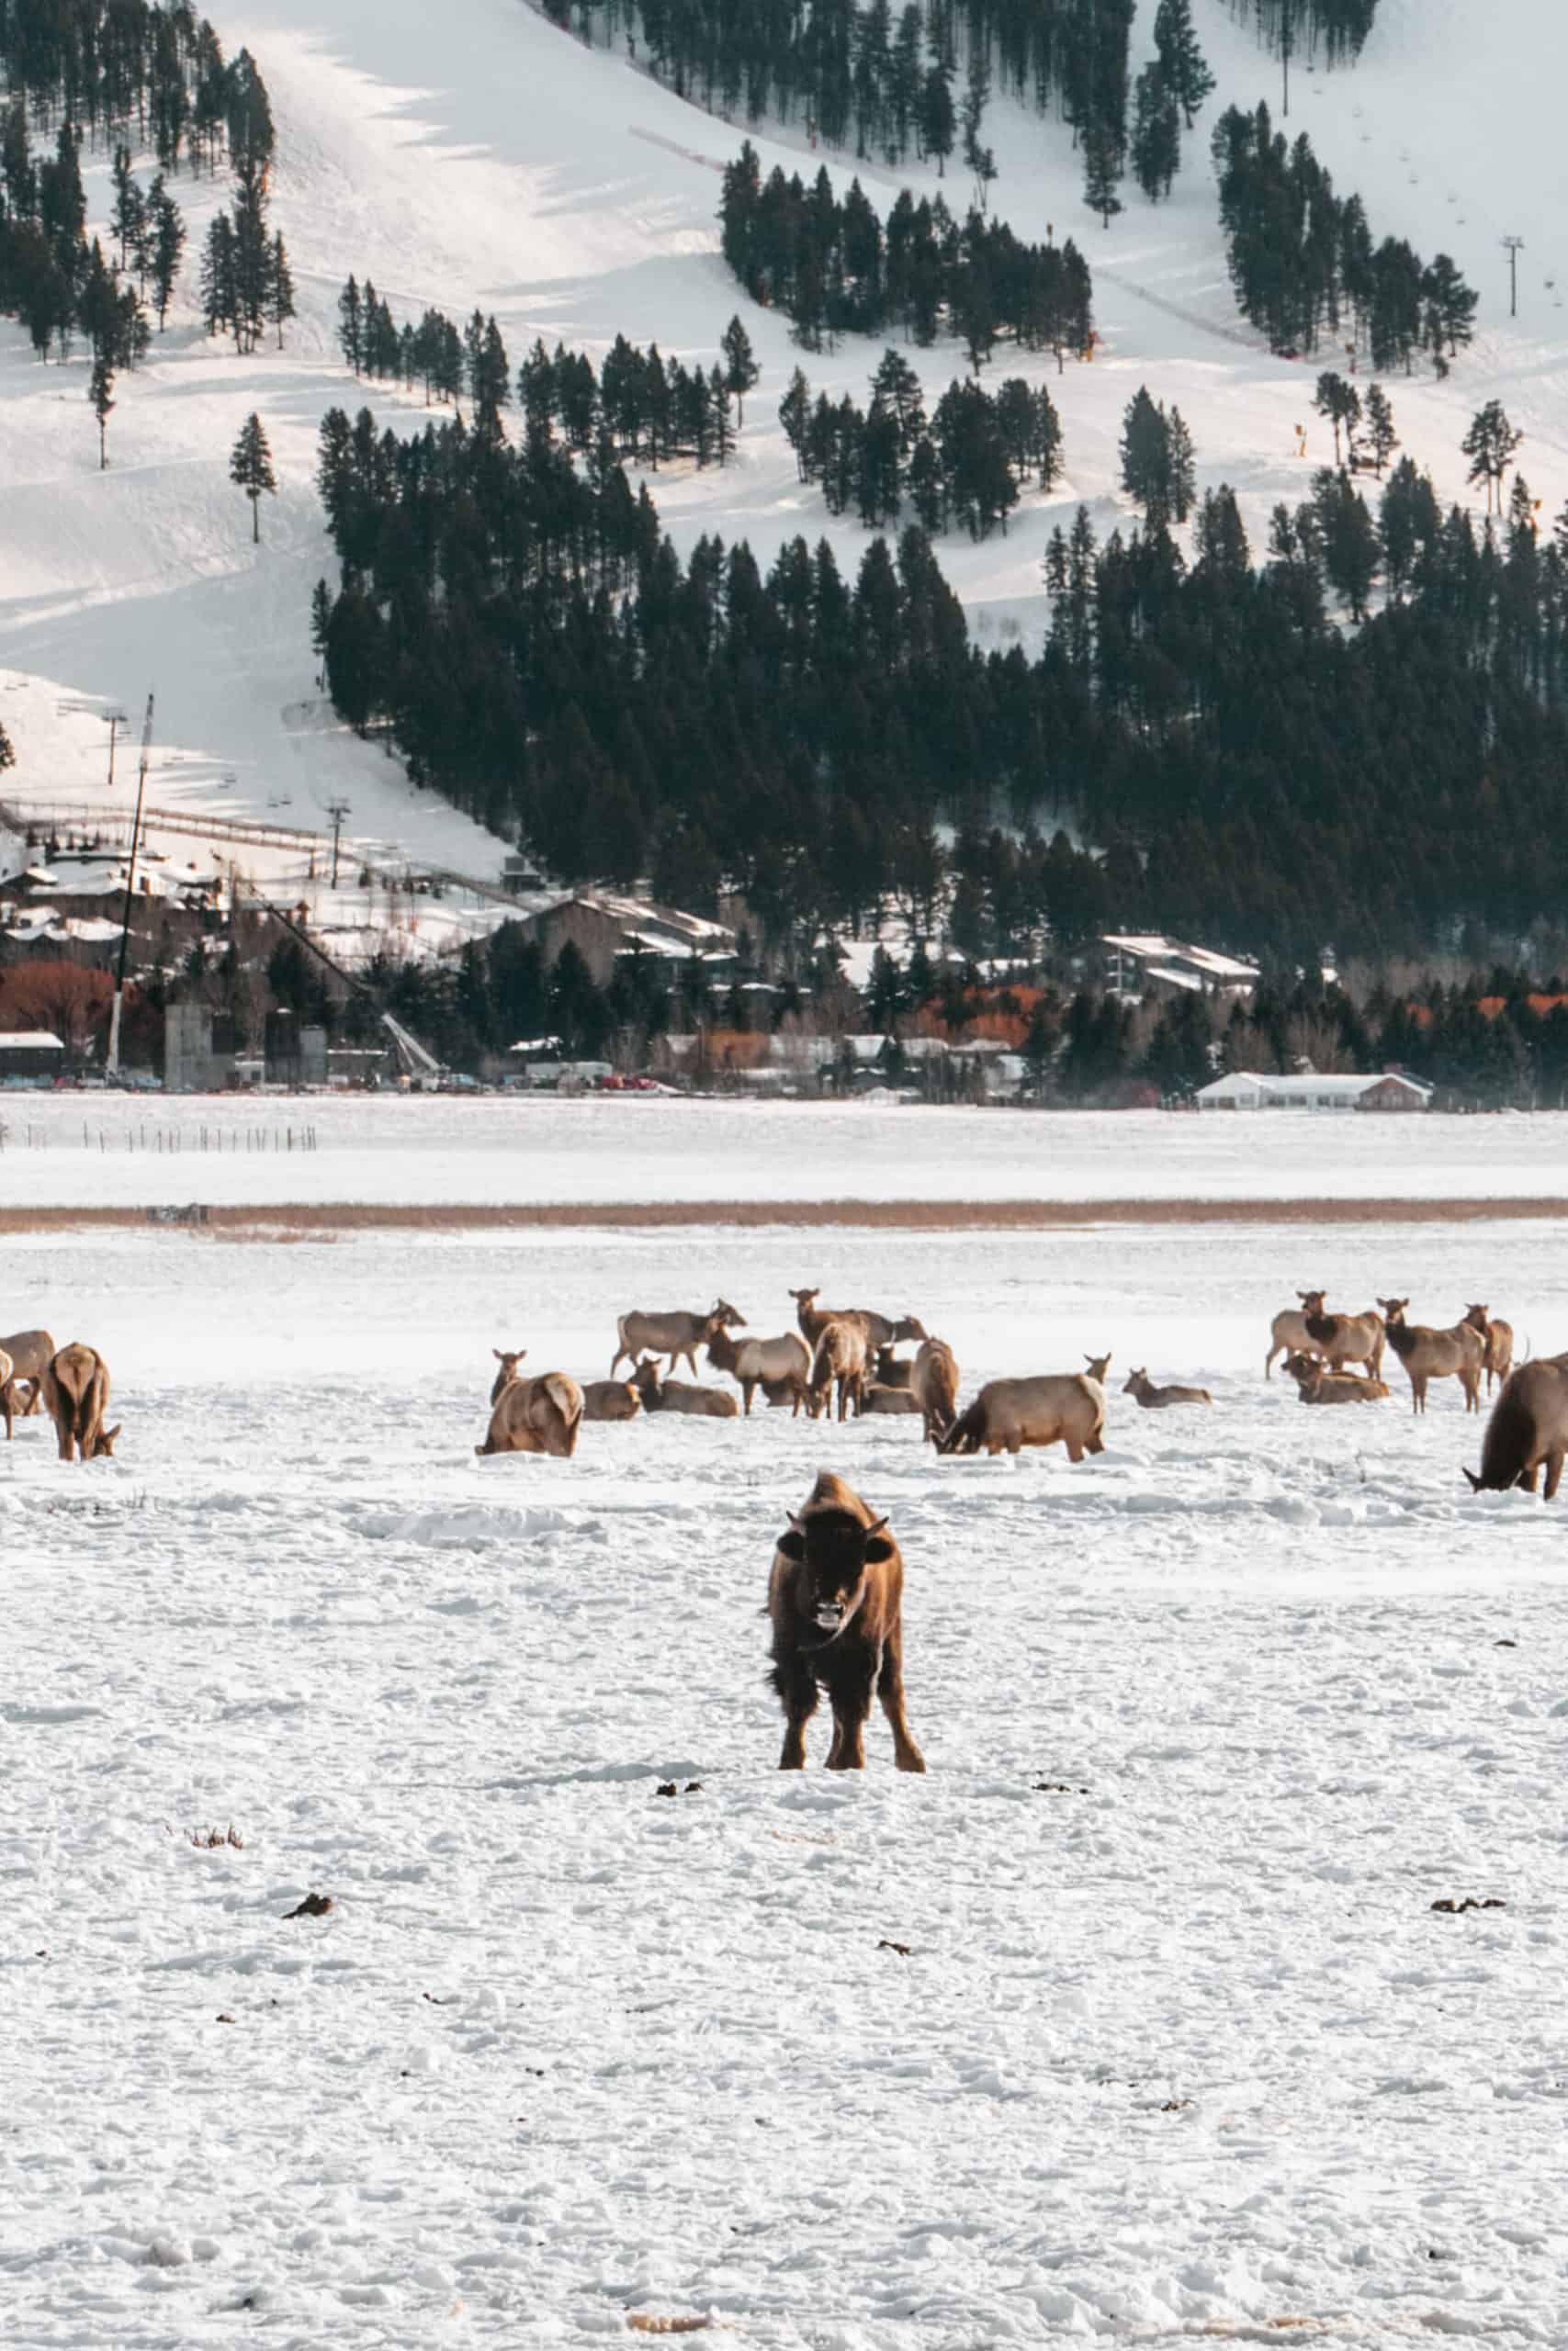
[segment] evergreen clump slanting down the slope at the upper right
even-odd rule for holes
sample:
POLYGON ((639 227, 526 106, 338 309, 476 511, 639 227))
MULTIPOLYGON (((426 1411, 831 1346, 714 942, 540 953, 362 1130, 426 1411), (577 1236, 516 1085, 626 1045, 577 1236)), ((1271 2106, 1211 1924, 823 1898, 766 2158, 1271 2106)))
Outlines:
POLYGON ((1338 197, 1307 134, 1286 141, 1267 106, 1229 106, 1213 160, 1237 306, 1272 350, 1316 350, 1328 334, 1378 369, 1408 371, 1429 350, 1448 371, 1476 313, 1448 254, 1425 263, 1403 237, 1373 245, 1361 197, 1338 197))

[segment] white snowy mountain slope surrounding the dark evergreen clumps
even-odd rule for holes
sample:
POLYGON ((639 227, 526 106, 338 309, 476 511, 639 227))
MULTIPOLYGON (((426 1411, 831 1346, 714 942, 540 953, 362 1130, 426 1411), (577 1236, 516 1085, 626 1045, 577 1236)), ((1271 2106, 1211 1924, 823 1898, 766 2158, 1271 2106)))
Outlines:
MULTIPOLYGON (((68 804, 103 792, 103 729, 68 698, 118 698, 141 712, 158 686, 155 797, 223 813, 320 828, 327 802, 353 804, 350 832, 407 856, 494 872, 496 844, 473 823, 411 792, 395 764, 331 722, 308 644, 308 597, 331 569, 313 491, 315 433, 331 402, 369 400, 416 428, 423 404, 386 386, 357 388, 336 355, 336 294, 371 275, 400 317, 437 303, 463 317, 494 310, 512 357, 562 336, 592 353, 618 334, 710 362, 733 310, 764 367, 748 400, 738 461, 724 473, 665 468, 654 491, 677 543, 701 531, 748 536, 762 557, 795 531, 827 534, 853 569, 865 531, 832 522, 776 423, 776 402, 802 360, 788 324, 745 303, 717 259, 717 172, 743 127, 675 99, 623 56, 590 54, 522 0, 451 0, 433 16, 418 0, 329 5, 252 0, 219 12, 233 49, 247 42, 268 80, 280 146, 273 214, 289 240, 301 317, 284 353, 237 360, 207 343, 193 315, 200 237, 226 183, 183 183, 188 273, 153 362, 120 383, 110 470, 96 470, 87 360, 40 367, 16 327, 0 329, 0 715, 19 750, 7 778, 19 799, 68 804), (263 545, 228 482, 244 414, 266 421, 280 496, 266 501, 263 545), (233 781, 226 781, 233 778, 233 781)), ((1133 31, 1133 68, 1150 54, 1152 0, 1133 31)), ((1481 289, 1479 336, 1448 383, 1429 374, 1389 386, 1403 447, 1462 498, 1460 435, 1486 397, 1526 430, 1521 465, 1554 513, 1568 496, 1568 221, 1554 186, 1552 108, 1568 66, 1568 21, 1549 0, 1500 0, 1476 54, 1474 14, 1458 0, 1385 0, 1361 63, 1293 75, 1291 129, 1309 129, 1342 190, 1356 188, 1375 235, 1408 235, 1422 254, 1448 249, 1481 289), (1500 235, 1526 237, 1521 315, 1507 317, 1500 235), (1561 245, 1559 245, 1561 240, 1561 245)), ((1044 625, 1039 557, 1051 529, 1084 498, 1098 529, 1117 520, 1117 435, 1126 400, 1147 383, 1175 402, 1197 442, 1199 482, 1229 482, 1255 545, 1269 508, 1307 491, 1328 456, 1328 430, 1307 411, 1314 374, 1333 362, 1269 357, 1237 317, 1225 282, 1208 129, 1225 103, 1272 106, 1279 68, 1220 0, 1199 9, 1218 92, 1185 148, 1173 202, 1150 207, 1128 183, 1126 214, 1103 230, 1081 205, 1079 162, 1063 125, 997 101, 994 209, 1023 235, 1074 235, 1095 270, 1103 334, 1091 367, 999 355, 1006 371, 1048 379, 1063 414, 1067 477, 1058 496, 1027 496, 1006 536, 940 543, 950 578, 983 639, 1044 625), (1309 428, 1295 456, 1293 426, 1309 428)), ((764 169, 853 158, 811 155, 799 127, 752 134, 764 169)), ((143 179, 150 162, 143 160, 143 179)), ((936 174, 860 167, 884 209, 905 179, 936 174)), ((89 205, 108 209, 106 158, 92 160, 89 205)), ((945 190, 966 200, 954 169, 945 190)), ((806 357, 813 386, 856 390, 879 341, 851 339, 806 357)), ((933 400, 961 374, 957 346, 912 353, 933 400)))

